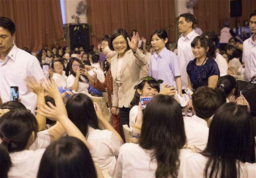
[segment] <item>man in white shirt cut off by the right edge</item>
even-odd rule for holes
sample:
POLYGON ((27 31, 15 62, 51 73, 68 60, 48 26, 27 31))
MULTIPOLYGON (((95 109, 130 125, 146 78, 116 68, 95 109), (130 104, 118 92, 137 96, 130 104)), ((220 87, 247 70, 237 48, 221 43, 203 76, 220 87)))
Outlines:
POLYGON ((244 78, 247 82, 256 75, 256 11, 250 14, 250 30, 253 35, 243 43, 244 78))

